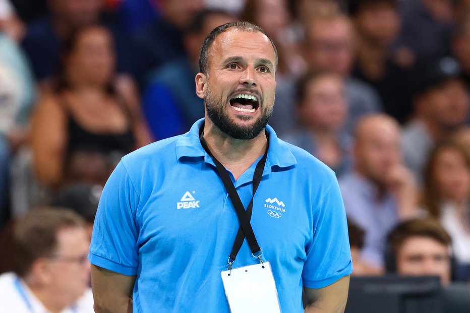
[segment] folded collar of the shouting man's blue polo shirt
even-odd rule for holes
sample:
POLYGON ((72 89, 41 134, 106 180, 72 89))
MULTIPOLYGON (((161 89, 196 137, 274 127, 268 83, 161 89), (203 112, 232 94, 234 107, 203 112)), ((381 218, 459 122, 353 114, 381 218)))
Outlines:
MULTIPOLYGON (((204 124, 204 118, 196 121, 190 131, 178 138, 176 143, 177 158, 184 162, 185 158, 204 158, 206 163, 214 165, 212 158, 204 151, 199 141, 199 130, 204 124)), ((268 125, 266 130, 269 134, 269 149, 266 167, 286 168, 297 164, 296 157, 290 151, 288 145, 277 138, 274 130, 268 125)), ((214 165, 215 166, 215 165, 214 165)), ((266 168, 265 167, 265 168, 266 168)), ((265 174, 266 171, 265 171, 265 174)))

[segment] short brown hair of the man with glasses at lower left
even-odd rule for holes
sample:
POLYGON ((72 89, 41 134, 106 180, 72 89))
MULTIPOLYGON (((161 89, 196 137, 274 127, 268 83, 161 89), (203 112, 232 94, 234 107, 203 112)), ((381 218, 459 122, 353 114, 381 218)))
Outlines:
POLYGON ((53 254, 60 230, 84 225, 84 219, 70 209, 47 207, 26 213, 14 226, 14 272, 26 276, 35 260, 53 254))

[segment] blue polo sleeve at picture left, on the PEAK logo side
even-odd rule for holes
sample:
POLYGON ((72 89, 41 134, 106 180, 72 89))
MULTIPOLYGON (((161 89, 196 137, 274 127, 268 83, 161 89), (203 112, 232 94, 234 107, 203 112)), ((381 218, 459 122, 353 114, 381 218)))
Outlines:
POLYGON ((138 195, 121 161, 101 194, 88 255, 91 264, 123 275, 137 274, 137 205, 138 195))

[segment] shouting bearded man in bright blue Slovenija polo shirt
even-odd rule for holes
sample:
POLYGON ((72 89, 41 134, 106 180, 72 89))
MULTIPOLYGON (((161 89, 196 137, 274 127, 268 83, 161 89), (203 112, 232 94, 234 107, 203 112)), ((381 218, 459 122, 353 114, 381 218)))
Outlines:
POLYGON ((303 287, 306 312, 343 311, 353 268, 335 175, 267 126, 274 44, 253 24, 224 24, 199 66, 205 118, 124 157, 104 187, 89 254, 95 311, 229 312, 221 272, 256 257, 283 312, 303 311, 303 287))

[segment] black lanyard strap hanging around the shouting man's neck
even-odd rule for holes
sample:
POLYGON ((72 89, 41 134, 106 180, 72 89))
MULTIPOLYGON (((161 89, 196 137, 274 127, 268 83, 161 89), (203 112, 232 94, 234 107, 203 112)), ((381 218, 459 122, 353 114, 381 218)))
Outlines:
POLYGON ((250 246, 251 252, 253 257, 259 258, 261 261, 261 248, 258 245, 258 241, 256 240, 255 233, 253 232, 253 228, 250 224, 251 215, 253 212, 253 198, 255 197, 256 190, 261 182, 261 177, 263 176, 264 165, 266 164, 266 158, 268 156, 268 148, 269 148, 269 134, 266 132, 266 137, 268 139, 266 144, 266 151, 261 158, 261 160, 256 164, 255 173, 253 174, 253 196, 251 198, 250 204, 245 211, 243 207, 242 201, 240 200, 240 196, 237 193, 233 182, 228 175, 228 171, 225 167, 212 155, 209 148, 207 147, 206 141, 204 140, 204 127, 201 128, 199 131, 199 140, 201 141, 201 145, 206 150, 207 154, 212 157, 212 160, 217 167, 219 172, 220 178, 222 179, 222 183, 227 190, 228 196, 230 197, 230 201, 237 212, 237 216, 240 222, 240 228, 238 229, 237 237, 233 242, 232 251, 230 253, 230 257, 228 258, 229 268, 231 268, 231 264, 235 261, 240 248, 242 247, 243 240, 245 237, 247 238, 248 245, 250 246), (258 255, 256 255, 258 254, 258 255))

